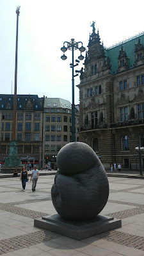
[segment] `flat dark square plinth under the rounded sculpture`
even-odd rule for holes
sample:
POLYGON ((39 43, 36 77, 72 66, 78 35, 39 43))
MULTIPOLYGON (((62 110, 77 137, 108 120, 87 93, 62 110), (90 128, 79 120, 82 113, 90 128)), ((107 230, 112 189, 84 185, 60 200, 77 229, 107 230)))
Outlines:
POLYGON ((122 220, 114 220, 113 217, 98 215, 95 220, 91 221, 67 221, 63 220, 59 214, 54 214, 35 219, 34 226, 81 240, 122 227, 122 220))

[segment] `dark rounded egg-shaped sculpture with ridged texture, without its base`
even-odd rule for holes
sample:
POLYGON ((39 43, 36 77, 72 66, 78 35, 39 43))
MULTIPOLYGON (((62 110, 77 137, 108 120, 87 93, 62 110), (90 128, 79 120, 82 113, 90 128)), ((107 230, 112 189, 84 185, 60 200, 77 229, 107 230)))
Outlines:
POLYGON ((58 172, 51 189, 52 203, 65 220, 93 220, 109 195, 108 177, 99 157, 82 142, 61 148, 58 172))

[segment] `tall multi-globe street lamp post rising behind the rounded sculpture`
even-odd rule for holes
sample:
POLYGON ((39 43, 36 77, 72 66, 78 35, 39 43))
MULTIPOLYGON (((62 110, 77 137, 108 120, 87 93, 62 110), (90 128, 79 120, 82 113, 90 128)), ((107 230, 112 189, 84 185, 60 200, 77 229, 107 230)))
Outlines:
MULTIPOLYGON (((70 63, 70 68, 72 68, 72 142, 76 141, 75 137, 75 104, 74 104, 74 77, 78 76, 78 74, 74 75, 74 67, 76 67, 79 63, 78 60, 76 60, 76 64, 74 65, 74 50, 79 49, 80 52, 84 52, 85 48, 83 47, 82 42, 75 42, 74 38, 71 39, 70 42, 65 41, 63 43, 63 47, 61 47, 61 51, 63 52, 63 55, 61 56, 62 60, 67 60, 67 56, 65 56, 65 52, 68 50, 72 51, 72 63, 70 63), (65 44, 67 47, 65 47, 65 44), (79 47, 79 44, 81 44, 81 47, 79 47)), ((79 60, 83 60, 84 56, 81 54, 79 57, 79 60)))

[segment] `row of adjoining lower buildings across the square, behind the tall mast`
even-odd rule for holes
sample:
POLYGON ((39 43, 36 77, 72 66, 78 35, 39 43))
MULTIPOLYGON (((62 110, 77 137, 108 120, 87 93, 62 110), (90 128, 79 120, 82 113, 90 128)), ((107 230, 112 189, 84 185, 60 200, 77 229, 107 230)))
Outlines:
MULTIPOLYGON (((71 141, 72 107, 68 100, 17 95, 16 141, 22 163, 41 168, 50 163, 63 145, 71 141)), ((79 140, 79 107, 76 106, 76 141, 79 140)), ((13 95, 0 95, 0 163, 9 154, 13 130, 13 95)))

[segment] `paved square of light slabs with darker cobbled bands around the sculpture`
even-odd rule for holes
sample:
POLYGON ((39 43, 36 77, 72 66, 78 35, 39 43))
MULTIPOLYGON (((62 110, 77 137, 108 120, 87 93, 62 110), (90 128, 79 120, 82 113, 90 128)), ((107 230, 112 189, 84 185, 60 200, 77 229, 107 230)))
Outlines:
POLYGON ((109 177, 109 200, 102 214, 122 219, 122 228, 76 241, 33 227, 33 219, 56 211, 54 175, 40 176, 36 191, 19 177, 0 179, 0 255, 144 256, 144 179, 109 177))

